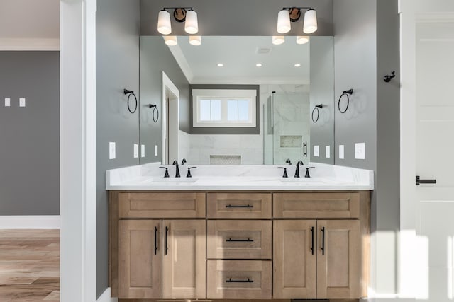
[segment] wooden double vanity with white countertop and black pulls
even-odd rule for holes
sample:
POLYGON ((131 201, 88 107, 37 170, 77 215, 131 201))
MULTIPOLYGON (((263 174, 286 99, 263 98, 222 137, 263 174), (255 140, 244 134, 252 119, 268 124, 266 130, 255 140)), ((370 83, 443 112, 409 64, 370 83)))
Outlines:
MULTIPOLYGON (((358 299, 369 276, 370 170, 156 165, 108 170, 112 296, 358 299)), ((131 300, 132 301, 132 300, 131 300)))

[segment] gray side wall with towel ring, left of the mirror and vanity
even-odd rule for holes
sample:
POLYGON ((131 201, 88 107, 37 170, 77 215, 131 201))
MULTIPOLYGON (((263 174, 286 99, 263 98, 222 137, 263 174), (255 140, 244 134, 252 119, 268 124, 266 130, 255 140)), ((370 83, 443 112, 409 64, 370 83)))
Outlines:
POLYGON ((108 285, 106 170, 138 165, 138 110, 126 107, 123 88, 139 95, 139 0, 98 0, 96 13, 96 296, 108 285), (109 141, 116 159, 109 160, 109 141))

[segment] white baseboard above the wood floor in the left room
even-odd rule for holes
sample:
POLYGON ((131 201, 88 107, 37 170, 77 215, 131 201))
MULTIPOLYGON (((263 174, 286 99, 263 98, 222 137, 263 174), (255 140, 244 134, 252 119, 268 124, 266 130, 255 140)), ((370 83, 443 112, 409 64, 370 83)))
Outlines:
POLYGON ((0 216, 0 229, 5 228, 60 228, 60 215, 0 216))

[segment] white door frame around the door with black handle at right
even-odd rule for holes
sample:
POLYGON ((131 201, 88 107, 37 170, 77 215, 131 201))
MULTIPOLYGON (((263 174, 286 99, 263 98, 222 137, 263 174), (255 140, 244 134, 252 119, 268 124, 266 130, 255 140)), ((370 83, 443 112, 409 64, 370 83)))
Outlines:
POLYGON ((414 299, 419 204, 416 175, 416 24, 454 22, 450 0, 399 0, 401 24, 399 297, 414 299))

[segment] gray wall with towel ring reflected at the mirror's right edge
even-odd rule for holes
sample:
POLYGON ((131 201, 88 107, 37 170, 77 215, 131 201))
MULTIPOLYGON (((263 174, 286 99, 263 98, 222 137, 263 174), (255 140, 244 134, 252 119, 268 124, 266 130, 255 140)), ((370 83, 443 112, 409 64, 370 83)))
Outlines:
MULTIPOLYGON (((319 120, 311 124, 311 144, 310 150, 311 161, 316 163, 334 163, 334 106, 333 89, 334 89, 334 48, 331 39, 312 39, 310 48, 310 75, 311 90, 309 91, 311 105, 309 112, 312 117, 312 110, 316 105, 323 105, 319 108, 319 120), (314 146, 320 146, 320 156, 314 157, 314 146), (326 158, 325 146, 330 146, 330 158, 326 158)), ((314 119, 317 114, 314 113, 314 119)))

